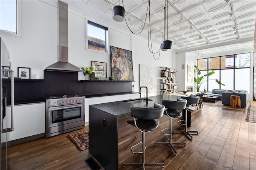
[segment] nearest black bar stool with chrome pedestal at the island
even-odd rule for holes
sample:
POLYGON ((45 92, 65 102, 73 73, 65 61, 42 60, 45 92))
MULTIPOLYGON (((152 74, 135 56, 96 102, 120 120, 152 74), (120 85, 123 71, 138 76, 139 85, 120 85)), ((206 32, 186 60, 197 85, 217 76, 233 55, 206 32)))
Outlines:
POLYGON ((142 142, 139 142, 131 147, 131 151, 134 154, 142 154, 142 162, 136 163, 123 163, 123 167, 127 166, 162 166, 164 167, 164 163, 145 163, 145 133, 155 130, 159 125, 159 118, 161 118, 164 114, 164 105, 159 103, 154 103, 154 108, 142 108, 142 107, 131 107, 131 117, 132 121, 127 121, 128 124, 136 127, 140 132, 142 132, 142 142), (154 119, 157 119, 157 123, 154 119), (142 151, 135 152, 133 150, 134 146, 138 144, 142 144, 142 151))

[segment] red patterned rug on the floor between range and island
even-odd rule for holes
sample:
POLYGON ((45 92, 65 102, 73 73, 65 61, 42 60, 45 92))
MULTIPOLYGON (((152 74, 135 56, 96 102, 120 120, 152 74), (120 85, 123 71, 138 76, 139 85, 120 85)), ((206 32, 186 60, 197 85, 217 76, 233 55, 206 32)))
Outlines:
POLYGON ((76 145, 78 150, 86 150, 89 148, 89 130, 83 130, 68 135, 68 138, 76 145))

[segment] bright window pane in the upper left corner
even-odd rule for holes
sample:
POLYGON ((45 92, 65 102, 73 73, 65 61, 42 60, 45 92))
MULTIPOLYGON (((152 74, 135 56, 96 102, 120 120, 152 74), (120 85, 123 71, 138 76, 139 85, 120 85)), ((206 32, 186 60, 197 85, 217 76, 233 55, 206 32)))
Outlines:
POLYGON ((16 33, 16 0, 0 1, 0 30, 16 33))

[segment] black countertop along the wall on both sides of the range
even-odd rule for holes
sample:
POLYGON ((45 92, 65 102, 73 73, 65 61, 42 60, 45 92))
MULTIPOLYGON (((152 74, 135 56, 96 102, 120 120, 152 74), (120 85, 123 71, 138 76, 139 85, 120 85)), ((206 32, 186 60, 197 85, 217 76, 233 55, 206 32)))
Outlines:
MULTIPOLYGON (((86 98, 90 98, 90 97, 104 97, 104 96, 112 96, 112 95, 127 95, 127 94, 136 94, 136 93, 140 93, 140 92, 122 92, 122 93, 106 93, 106 94, 94 94, 94 95, 86 95, 83 94, 81 96, 85 96, 86 98)), ((15 99, 15 97, 14 97, 15 99)), ((23 105, 23 104, 31 104, 31 103, 41 103, 41 102, 45 102, 46 99, 44 98, 40 98, 40 99, 24 99, 24 100, 14 100, 14 105, 23 105)), ((10 101, 7 101, 7 103, 9 103, 10 105, 10 101)))

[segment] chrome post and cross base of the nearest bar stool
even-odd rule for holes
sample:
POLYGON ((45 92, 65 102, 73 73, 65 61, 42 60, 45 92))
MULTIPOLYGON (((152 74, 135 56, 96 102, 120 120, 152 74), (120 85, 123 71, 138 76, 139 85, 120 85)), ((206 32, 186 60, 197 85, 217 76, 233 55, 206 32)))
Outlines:
POLYGON ((142 132, 142 162, 129 162, 129 163, 123 163, 123 167, 125 166, 142 166, 145 170, 145 166, 162 166, 164 168, 164 163, 146 163, 145 162, 145 131, 142 132))

